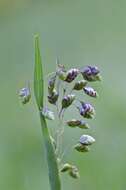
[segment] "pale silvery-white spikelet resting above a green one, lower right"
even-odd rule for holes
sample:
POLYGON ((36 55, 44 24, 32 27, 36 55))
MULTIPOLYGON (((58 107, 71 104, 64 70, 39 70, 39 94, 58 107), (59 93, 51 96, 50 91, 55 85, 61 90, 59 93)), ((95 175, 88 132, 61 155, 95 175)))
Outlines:
POLYGON ((79 139, 79 143, 82 145, 92 145, 95 142, 95 139, 90 135, 82 135, 79 139))

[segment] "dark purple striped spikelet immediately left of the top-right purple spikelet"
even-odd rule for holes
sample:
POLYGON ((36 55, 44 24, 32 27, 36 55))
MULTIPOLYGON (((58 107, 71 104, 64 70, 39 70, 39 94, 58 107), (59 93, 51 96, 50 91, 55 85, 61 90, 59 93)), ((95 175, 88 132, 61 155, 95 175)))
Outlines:
POLYGON ((70 69, 69 71, 67 71, 66 73, 66 79, 65 81, 70 83, 72 82, 76 77, 77 75, 79 74, 79 70, 78 69, 70 69))

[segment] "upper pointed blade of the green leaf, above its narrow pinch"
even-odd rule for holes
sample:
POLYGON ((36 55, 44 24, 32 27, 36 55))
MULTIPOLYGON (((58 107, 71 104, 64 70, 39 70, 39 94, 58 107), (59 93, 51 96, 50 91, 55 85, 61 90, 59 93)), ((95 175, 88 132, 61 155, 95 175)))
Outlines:
POLYGON ((39 37, 35 36, 34 94, 39 110, 43 107, 43 71, 39 49, 39 37))

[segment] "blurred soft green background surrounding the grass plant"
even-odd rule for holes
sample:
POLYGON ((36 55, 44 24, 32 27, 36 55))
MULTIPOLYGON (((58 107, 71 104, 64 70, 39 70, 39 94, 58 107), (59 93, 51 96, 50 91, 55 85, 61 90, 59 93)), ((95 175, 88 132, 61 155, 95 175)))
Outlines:
MULTIPOLYGON (((97 142, 88 154, 67 152, 65 160, 78 166, 81 178, 64 174, 63 190, 125 190, 125 0, 0 1, 0 189, 49 190, 35 100, 22 106, 17 96, 27 80, 33 82, 35 33, 41 37, 45 75, 55 70, 58 55, 68 68, 97 65, 103 76, 93 85, 100 97, 88 98, 96 119, 84 131, 97 142)), ((66 129, 64 146, 82 133, 66 129)))

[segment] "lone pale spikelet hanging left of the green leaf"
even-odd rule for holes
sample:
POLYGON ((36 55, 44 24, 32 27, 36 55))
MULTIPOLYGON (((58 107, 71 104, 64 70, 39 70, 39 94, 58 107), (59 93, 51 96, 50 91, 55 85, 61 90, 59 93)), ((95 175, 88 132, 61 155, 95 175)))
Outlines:
POLYGON ((28 103, 30 101, 30 98, 31 98, 30 89, 28 87, 22 88, 19 91, 19 96, 21 97, 22 104, 28 103))

